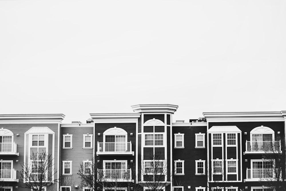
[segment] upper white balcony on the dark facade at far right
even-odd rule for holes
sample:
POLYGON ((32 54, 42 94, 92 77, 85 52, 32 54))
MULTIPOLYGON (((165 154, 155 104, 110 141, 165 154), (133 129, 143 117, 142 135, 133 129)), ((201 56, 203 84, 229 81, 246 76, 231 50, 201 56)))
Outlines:
POLYGON ((245 154, 281 153, 281 141, 246 141, 245 154))

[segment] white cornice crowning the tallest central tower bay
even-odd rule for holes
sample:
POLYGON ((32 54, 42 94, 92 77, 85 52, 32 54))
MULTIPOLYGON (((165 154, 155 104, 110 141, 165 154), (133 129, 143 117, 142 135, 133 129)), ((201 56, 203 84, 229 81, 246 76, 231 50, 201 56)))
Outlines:
POLYGON ((139 104, 131 106, 134 112, 168 112, 174 113, 177 109, 177 105, 171 104, 139 104))

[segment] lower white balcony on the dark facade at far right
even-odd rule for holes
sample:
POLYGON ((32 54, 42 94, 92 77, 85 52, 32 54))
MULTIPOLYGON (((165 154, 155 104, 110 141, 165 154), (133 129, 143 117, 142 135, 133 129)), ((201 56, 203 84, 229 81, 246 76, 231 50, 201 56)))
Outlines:
MULTIPOLYGON (((277 172, 279 169, 275 169, 277 172)), ((275 171, 270 169, 246 169, 246 182, 275 181, 275 171)))

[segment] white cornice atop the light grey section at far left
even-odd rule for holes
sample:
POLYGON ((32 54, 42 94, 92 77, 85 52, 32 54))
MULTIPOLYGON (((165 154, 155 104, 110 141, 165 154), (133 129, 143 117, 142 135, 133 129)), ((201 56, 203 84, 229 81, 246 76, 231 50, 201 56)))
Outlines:
POLYGON ((61 123, 64 117, 63 114, 0 114, 0 123, 61 123))

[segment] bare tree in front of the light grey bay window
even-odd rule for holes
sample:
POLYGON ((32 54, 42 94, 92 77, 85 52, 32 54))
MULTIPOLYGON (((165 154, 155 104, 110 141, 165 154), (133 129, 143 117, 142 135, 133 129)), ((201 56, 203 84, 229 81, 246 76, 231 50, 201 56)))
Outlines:
POLYGON ((57 179, 54 178, 56 171, 53 158, 45 151, 32 152, 29 162, 22 165, 20 174, 25 188, 33 191, 42 191, 45 187, 57 182, 57 179))

